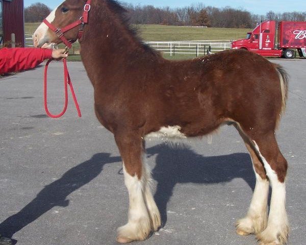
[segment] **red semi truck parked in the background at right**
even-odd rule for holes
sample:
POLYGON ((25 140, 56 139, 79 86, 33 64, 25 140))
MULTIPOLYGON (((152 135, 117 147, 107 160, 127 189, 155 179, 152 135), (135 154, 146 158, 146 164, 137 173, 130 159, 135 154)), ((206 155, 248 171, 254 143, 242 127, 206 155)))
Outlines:
POLYGON ((233 41, 232 48, 245 48, 251 52, 269 57, 294 58, 294 50, 300 57, 306 57, 306 22, 265 21, 260 23, 246 39, 233 41), (277 32, 277 35, 276 35, 277 32))

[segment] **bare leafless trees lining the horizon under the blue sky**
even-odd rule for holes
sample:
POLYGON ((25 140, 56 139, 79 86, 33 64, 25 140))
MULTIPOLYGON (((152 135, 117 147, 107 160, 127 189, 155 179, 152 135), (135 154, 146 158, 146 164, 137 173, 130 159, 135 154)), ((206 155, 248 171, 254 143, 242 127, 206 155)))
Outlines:
MULTIPOLYGON (((165 24, 171 26, 207 26, 214 28, 253 28, 265 20, 306 21, 306 12, 267 12, 266 15, 252 14, 243 9, 231 7, 216 8, 202 3, 184 8, 158 8, 152 5, 124 3, 132 24, 165 24)), ((32 4, 24 9, 25 22, 41 22, 51 9, 42 3, 32 4)))

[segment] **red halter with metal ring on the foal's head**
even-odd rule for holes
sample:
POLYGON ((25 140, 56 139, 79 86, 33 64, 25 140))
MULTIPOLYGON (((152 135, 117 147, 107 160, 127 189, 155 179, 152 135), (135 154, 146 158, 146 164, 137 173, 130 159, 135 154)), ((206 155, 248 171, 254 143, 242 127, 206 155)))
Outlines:
POLYGON ((78 34, 78 39, 80 39, 82 37, 83 34, 83 27, 84 24, 88 23, 88 13, 90 11, 90 2, 91 0, 87 0, 86 4, 84 5, 84 12, 83 15, 80 17, 80 19, 78 19, 77 21, 74 21, 71 24, 68 24, 68 26, 63 27, 63 28, 56 28, 53 26, 53 24, 51 24, 49 21, 47 21, 46 19, 43 20, 43 22, 53 31, 55 32, 55 34, 63 41, 63 43, 65 43, 65 45, 70 48, 72 46, 72 43, 76 40, 73 40, 71 42, 68 41, 65 37, 64 37, 64 33, 77 27, 80 26, 80 24, 82 24, 81 28, 79 29, 79 34, 78 34))

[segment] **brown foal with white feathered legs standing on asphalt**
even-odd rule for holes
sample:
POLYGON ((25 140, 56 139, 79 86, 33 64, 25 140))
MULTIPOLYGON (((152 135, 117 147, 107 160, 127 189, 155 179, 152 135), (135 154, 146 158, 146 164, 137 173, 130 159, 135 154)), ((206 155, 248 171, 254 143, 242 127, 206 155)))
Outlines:
POLYGON ((46 19, 61 29, 59 35, 42 23, 34 35, 35 45, 79 38, 94 87, 96 116, 114 134, 122 157, 130 207, 117 241, 144 240, 161 226, 149 187, 150 170, 143 160, 145 138, 202 136, 230 122, 245 142, 256 175, 251 204, 237 223, 237 233, 256 234, 265 245, 286 243, 287 162, 275 139, 288 93, 282 67, 244 50, 165 60, 143 44, 127 24, 124 9, 111 0, 66 0, 46 19), (88 22, 61 34, 85 18, 88 22))

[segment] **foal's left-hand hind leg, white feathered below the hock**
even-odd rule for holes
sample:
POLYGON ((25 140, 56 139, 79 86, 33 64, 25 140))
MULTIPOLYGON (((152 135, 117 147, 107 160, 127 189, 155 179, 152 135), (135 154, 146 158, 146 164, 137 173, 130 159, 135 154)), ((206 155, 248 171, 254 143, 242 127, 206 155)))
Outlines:
POLYGON ((236 232, 239 235, 259 234, 265 230, 267 226, 269 181, 266 176, 264 165, 258 158, 256 152, 252 149, 247 136, 241 131, 241 129, 238 128, 238 131, 245 142, 248 152, 250 153, 256 176, 256 185, 246 216, 239 219, 236 223, 236 232))

